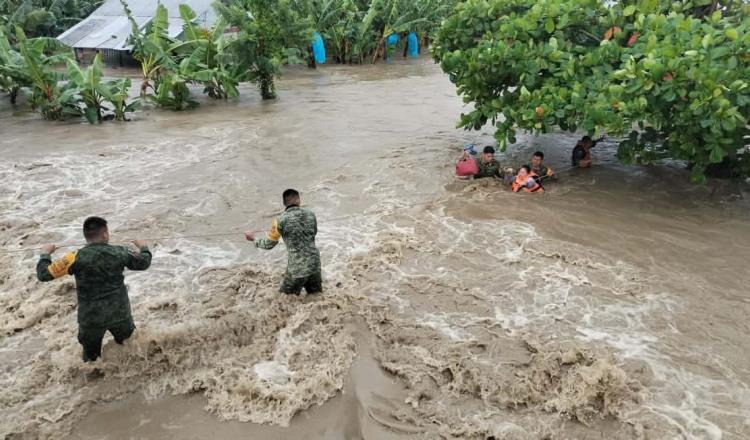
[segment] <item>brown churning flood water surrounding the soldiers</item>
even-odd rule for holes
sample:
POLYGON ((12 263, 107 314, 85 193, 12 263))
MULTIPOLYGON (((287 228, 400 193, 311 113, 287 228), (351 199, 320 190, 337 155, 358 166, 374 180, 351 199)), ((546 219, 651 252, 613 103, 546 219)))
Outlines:
POLYGON ((94 127, 0 104, 0 437, 750 438, 745 187, 606 142, 566 171, 572 134, 497 155, 543 150, 543 195, 459 181, 491 131, 453 128, 425 60, 279 90, 94 127), (319 297, 278 294, 284 247, 241 233, 289 187, 318 216, 319 297), (73 280, 7 251, 80 243, 88 215, 154 259, 126 276, 134 337, 84 365, 73 280))

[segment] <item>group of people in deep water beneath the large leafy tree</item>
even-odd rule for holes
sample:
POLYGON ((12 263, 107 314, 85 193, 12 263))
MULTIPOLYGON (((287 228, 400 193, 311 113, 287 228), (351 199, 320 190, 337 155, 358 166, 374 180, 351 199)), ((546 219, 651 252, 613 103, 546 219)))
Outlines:
MULTIPOLYGON (((571 168, 588 168, 591 166, 591 149, 601 142, 604 137, 592 139, 590 136, 582 137, 573 148, 571 156, 571 168)), ((544 192, 544 180, 556 180, 557 174, 552 168, 544 165, 544 153, 536 151, 531 156, 531 161, 521 165, 518 170, 512 167, 503 167, 495 159, 495 149, 486 146, 481 155, 477 156, 474 146, 464 148, 463 157, 456 164, 456 175, 462 178, 485 178, 494 177, 503 181, 511 187, 513 192, 544 192)))

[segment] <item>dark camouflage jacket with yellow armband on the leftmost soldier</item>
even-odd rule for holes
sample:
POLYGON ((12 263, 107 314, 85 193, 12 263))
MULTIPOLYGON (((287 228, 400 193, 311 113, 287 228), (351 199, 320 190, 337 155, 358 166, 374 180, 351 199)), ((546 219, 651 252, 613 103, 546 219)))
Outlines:
POLYGON ((146 270, 150 265, 151 252, 146 247, 137 253, 122 246, 90 243, 55 262, 49 254, 42 254, 36 276, 39 281, 52 281, 73 275, 78 293, 78 323, 107 327, 132 317, 123 270, 146 270))

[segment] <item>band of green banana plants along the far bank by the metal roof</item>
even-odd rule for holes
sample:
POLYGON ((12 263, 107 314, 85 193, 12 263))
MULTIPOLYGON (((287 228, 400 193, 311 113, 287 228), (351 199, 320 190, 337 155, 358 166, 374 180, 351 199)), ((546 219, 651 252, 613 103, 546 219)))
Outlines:
POLYGON ((129 101, 129 79, 102 82, 99 56, 82 69, 69 48, 47 37, 101 1, 0 3, 0 92, 14 104, 23 92, 47 119, 84 116, 91 123, 125 120, 141 103, 196 107, 191 84, 211 98, 228 99, 239 95, 241 82, 253 82, 263 99, 274 99, 282 66, 315 65, 314 34, 325 39, 333 62, 376 62, 404 46, 397 34, 413 32, 426 44, 453 0, 221 0, 210 28, 198 26, 196 13, 183 4, 180 38, 169 35, 164 5, 156 4, 153 20, 140 26, 127 2, 121 3, 132 28, 131 55, 141 65, 138 99, 129 101))

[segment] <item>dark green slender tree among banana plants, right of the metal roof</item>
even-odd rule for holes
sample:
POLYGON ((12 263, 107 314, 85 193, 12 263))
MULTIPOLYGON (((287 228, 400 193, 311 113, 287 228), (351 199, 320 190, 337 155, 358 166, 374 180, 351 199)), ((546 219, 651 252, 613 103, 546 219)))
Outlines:
POLYGON ((258 84, 263 99, 275 99, 274 77, 282 65, 300 62, 300 48, 311 41, 309 21, 288 0, 225 0, 217 10, 238 30, 232 45, 236 62, 247 66, 247 77, 258 84))

